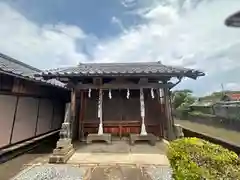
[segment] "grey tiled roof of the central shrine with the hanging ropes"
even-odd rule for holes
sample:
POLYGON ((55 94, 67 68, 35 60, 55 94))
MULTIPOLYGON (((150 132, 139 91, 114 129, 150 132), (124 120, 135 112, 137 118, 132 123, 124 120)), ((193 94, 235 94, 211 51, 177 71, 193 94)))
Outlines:
POLYGON ((135 63, 80 63, 78 66, 44 71, 42 76, 118 76, 118 75, 167 75, 186 76, 196 79, 204 76, 203 72, 194 69, 166 66, 161 62, 135 63))

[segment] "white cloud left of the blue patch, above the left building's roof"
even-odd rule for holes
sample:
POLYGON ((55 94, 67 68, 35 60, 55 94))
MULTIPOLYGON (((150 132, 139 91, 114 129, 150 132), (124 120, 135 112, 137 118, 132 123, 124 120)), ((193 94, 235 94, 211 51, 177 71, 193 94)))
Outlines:
POLYGON ((75 41, 86 35, 77 26, 39 26, 0 3, 0 51, 38 68, 54 68, 86 60, 75 41))

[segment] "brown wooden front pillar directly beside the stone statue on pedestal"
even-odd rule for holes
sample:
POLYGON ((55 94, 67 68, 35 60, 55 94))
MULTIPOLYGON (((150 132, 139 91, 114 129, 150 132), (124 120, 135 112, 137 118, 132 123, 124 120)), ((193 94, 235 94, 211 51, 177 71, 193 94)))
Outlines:
POLYGON ((73 139, 73 137, 75 136, 74 134, 74 129, 76 128, 74 126, 76 122, 76 89, 75 88, 72 88, 72 91, 71 91, 71 120, 70 120, 70 128, 71 128, 71 131, 70 131, 70 137, 73 139))

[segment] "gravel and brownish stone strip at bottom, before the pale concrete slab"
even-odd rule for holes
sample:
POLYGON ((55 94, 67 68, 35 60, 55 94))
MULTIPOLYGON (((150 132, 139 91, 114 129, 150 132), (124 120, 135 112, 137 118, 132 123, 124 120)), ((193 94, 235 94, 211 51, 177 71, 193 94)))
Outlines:
MULTIPOLYGON (((127 167, 127 166, 93 166, 79 167, 71 165, 36 165, 24 170, 12 180, 82 180, 87 170, 92 171, 90 180, 172 180, 169 167, 127 167), (141 173, 143 172, 143 173, 141 173), (148 174, 147 176, 145 176, 148 174)), ((88 171, 89 172, 89 171, 88 171)))

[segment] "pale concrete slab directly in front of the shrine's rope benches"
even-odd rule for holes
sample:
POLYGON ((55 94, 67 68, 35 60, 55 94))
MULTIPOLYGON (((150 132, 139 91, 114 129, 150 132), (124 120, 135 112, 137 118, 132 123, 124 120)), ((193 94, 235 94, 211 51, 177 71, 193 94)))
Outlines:
POLYGON ((89 145, 75 145, 76 152, 68 160, 69 164, 141 164, 164 165, 169 162, 165 155, 165 144, 157 142, 151 146, 147 142, 139 142, 130 146, 128 141, 113 141, 92 143, 89 145))

